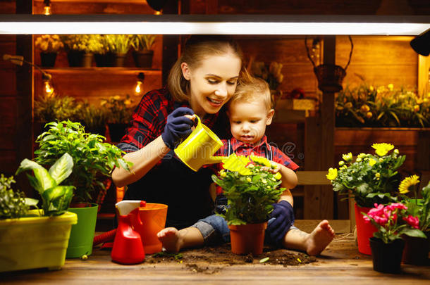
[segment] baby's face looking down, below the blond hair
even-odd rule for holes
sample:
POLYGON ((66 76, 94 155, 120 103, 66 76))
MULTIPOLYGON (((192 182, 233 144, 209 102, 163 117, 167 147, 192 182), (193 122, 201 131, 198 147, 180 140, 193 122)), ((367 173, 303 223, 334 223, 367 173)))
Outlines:
POLYGON ((228 108, 231 134, 247 144, 257 144, 270 125, 274 110, 267 110, 263 100, 232 102, 228 108))

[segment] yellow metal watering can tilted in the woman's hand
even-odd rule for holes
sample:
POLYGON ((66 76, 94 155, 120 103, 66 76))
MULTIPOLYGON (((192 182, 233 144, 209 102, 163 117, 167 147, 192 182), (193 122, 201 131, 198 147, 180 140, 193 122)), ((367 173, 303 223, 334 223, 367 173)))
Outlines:
POLYGON ((221 163, 223 156, 213 156, 223 146, 223 143, 209 127, 197 118, 197 126, 177 148, 176 156, 192 170, 199 170, 202 165, 221 163))

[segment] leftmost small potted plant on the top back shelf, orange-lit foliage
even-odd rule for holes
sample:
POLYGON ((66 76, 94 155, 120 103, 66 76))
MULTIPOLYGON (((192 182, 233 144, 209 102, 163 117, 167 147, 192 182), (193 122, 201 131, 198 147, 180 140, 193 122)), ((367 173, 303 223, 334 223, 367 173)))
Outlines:
POLYGON ((53 68, 57 53, 64 45, 58 34, 44 34, 37 37, 35 46, 40 50, 40 65, 53 68))

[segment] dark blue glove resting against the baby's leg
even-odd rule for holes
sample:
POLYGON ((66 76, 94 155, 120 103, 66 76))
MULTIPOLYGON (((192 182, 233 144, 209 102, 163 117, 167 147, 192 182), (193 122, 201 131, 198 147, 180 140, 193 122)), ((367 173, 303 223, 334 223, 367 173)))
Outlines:
POLYGON ((267 233, 269 234, 272 241, 277 245, 280 245, 288 229, 294 224, 294 211, 293 206, 285 200, 279 203, 272 204, 274 210, 270 213, 270 217, 274 217, 267 226, 267 233))

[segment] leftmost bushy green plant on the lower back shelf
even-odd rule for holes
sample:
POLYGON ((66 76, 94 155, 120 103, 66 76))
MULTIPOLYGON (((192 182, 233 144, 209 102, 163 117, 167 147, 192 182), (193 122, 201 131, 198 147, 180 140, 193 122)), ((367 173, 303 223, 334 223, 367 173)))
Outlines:
POLYGON ((39 122, 54 120, 76 120, 80 110, 70 96, 39 96, 35 101, 35 118, 39 122))

